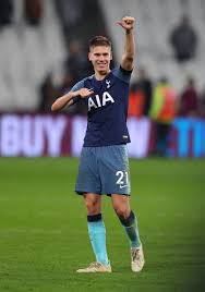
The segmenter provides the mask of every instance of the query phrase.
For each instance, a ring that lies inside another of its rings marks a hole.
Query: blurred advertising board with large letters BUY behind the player
[[[128,119],[129,155],[147,157],[155,147],[153,122]],[[67,114],[0,114],[0,156],[79,157],[86,131],[86,118]],[[167,149],[169,157],[205,157],[205,119],[176,119]]]

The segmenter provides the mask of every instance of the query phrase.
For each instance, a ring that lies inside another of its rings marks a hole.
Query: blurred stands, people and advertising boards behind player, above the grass
[[[51,114],[53,100],[93,74],[87,42],[112,41],[112,68],[123,51],[116,24],[136,19],[131,80],[131,157],[205,156],[205,1],[1,0],[0,156],[79,156],[86,109]]]

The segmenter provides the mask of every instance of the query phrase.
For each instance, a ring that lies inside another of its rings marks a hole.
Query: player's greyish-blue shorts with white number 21
[[[130,195],[126,145],[83,147],[75,192]]]

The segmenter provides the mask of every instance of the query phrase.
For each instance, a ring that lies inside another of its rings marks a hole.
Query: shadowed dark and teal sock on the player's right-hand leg
[[[141,239],[138,234],[138,228],[137,228],[137,220],[134,216],[134,212],[131,210],[129,218],[121,219],[120,221],[122,226],[125,229],[125,232],[130,240],[130,246],[131,247],[140,247],[141,246]]]

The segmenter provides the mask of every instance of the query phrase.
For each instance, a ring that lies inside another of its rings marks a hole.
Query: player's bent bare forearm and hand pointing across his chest
[[[93,93],[94,92],[88,88],[70,90],[68,94],[57,98],[57,100],[51,106],[51,111],[60,111],[67,107],[70,107],[71,105],[75,104],[77,99],[88,97]]]

